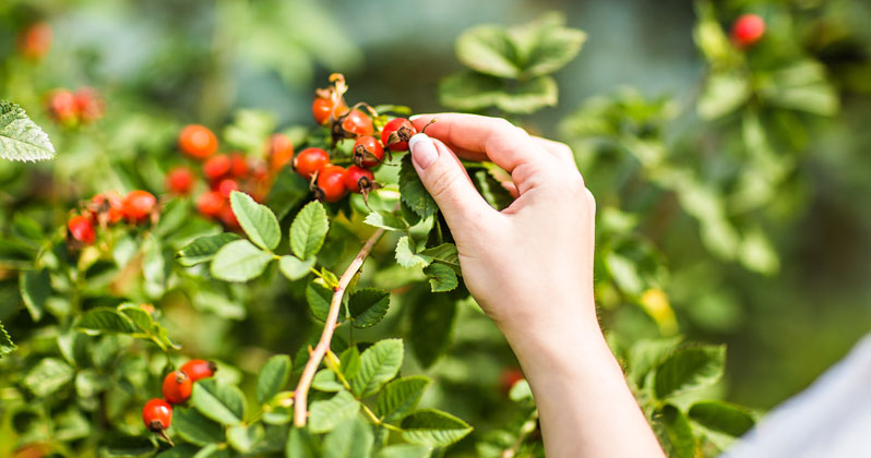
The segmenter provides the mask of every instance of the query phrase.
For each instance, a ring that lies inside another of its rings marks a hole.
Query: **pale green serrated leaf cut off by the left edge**
[[[48,135],[17,105],[0,100],[0,157],[8,160],[46,160],[55,157]]]

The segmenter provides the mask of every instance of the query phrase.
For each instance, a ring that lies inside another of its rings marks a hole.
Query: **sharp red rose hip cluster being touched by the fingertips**
[[[348,108],[344,100],[347,92],[344,76],[335,73],[330,76],[330,81],[329,87],[315,92],[311,112],[318,124],[330,130],[333,146],[345,138],[355,140],[351,148],[354,165],[345,169],[333,164],[325,149],[312,147],[297,155],[294,169],[302,178],[310,180],[311,191],[320,201],[338,202],[349,192],[367,196],[378,185],[372,169],[384,160],[385,149],[407,150],[408,140],[417,131],[409,120],[394,118],[377,133],[372,118],[378,117],[378,113],[365,104]]]

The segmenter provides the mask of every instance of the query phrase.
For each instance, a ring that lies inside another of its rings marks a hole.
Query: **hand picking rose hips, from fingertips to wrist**
[[[498,118],[442,113],[413,122],[420,131],[409,142],[413,164],[451,228],[472,296],[510,340],[566,321],[595,324],[596,205],[571,149]],[[502,212],[490,207],[457,156],[511,173],[515,201]]]

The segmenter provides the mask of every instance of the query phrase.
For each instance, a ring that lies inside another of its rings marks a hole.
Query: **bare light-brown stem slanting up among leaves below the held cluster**
[[[309,361],[306,362],[306,367],[302,370],[302,375],[299,378],[297,388],[294,390],[294,425],[297,427],[305,427],[308,421],[309,388],[311,388],[311,382],[314,378],[318,366],[321,365],[324,354],[330,350],[330,342],[333,340],[333,332],[338,321],[338,312],[342,309],[342,297],[345,296],[345,288],[348,287],[350,280],[357,275],[357,270],[362,266],[366,256],[369,255],[369,252],[372,251],[372,248],[383,234],[384,229],[377,230],[369,240],[366,241],[366,244],[363,244],[360,252],[357,253],[357,256],[351,261],[348,268],[345,269],[345,273],[342,274],[342,277],[338,279],[338,286],[335,288],[333,299],[330,302],[330,312],[326,314],[326,323],[323,326],[321,339],[318,341],[314,349],[310,350]]]

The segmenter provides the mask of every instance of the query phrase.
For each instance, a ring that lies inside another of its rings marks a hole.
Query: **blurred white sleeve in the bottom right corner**
[[[720,458],[871,458],[871,334]]]

